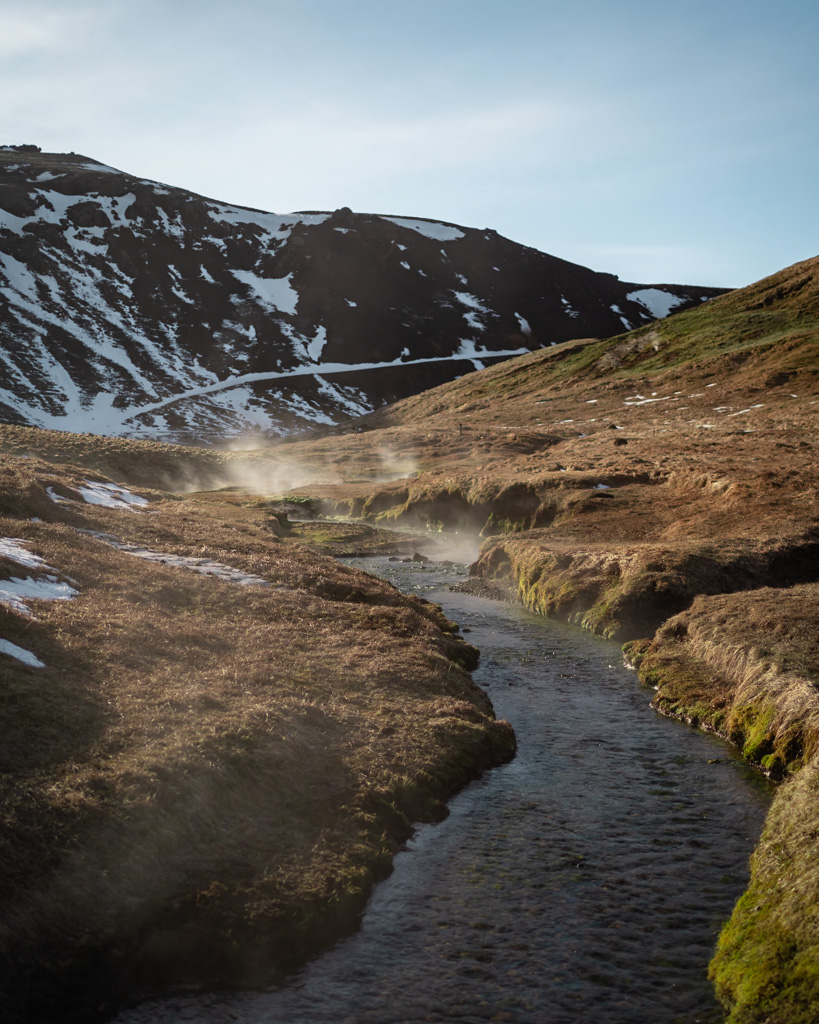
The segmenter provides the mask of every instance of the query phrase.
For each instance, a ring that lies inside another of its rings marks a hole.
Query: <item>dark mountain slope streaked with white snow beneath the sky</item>
[[[0,148],[0,420],[167,439],[338,422],[718,289],[423,219],[274,214]]]

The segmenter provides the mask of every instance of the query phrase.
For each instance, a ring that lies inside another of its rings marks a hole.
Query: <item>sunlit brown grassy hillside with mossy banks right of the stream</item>
[[[290,450],[356,481],[309,488],[331,509],[482,530],[476,585],[636,641],[659,710],[793,776],[713,967],[733,1024],[819,998],[818,345],[814,259]],[[379,482],[390,461],[416,472]]]

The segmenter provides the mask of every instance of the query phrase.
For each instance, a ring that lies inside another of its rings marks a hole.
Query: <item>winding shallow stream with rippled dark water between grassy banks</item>
[[[649,710],[613,643],[451,593],[463,566],[355,564],[443,604],[518,755],[422,825],[361,929],[267,992],[145,1004],[118,1024],[693,1024],[769,787]]]

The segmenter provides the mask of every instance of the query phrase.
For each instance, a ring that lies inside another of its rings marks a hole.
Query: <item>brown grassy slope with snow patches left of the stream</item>
[[[89,475],[0,456],[0,536],[79,591],[0,605],[0,637],[45,664],[0,653],[4,1021],[288,969],[354,924],[408,819],[514,748],[436,606],[281,543],[264,502],[143,492],[139,514],[84,504]]]

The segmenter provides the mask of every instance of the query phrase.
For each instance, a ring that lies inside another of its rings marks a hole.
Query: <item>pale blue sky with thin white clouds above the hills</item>
[[[0,143],[736,287],[819,253],[818,51],[802,0],[0,0]]]

